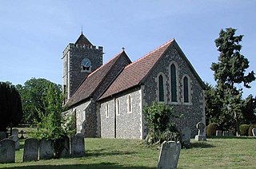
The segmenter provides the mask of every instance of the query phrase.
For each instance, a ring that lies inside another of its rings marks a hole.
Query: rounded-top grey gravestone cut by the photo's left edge
[[[15,143],[13,140],[0,141],[0,163],[15,163]]]

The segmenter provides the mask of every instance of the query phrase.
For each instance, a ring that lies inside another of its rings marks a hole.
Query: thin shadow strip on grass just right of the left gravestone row
[[[137,152],[131,151],[110,151],[109,149],[99,149],[94,151],[86,151],[86,156],[106,156],[106,155],[132,155],[137,154]]]

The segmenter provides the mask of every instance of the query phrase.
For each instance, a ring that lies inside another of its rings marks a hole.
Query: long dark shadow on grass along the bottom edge
[[[11,167],[15,169],[23,169],[23,168],[31,168],[31,169],[40,169],[40,168],[155,168],[155,167],[136,167],[136,166],[130,166],[125,167],[118,165],[118,163],[95,163],[95,164],[72,164],[72,165],[38,165],[38,166],[24,166],[24,167]]]

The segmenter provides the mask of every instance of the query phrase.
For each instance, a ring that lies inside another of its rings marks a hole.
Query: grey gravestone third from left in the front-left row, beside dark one
[[[39,159],[54,158],[54,143],[52,140],[39,141]]]

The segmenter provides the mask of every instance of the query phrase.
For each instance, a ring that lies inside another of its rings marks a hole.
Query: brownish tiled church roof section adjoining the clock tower
[[[94,70],[93,73],[90,73],[90,75],[86,77],[84,81],[82,81],[82,84],[74,92],[74,95],[70,97],[70,100],[68,100],[66,106],[70,107],[82,100],[90,98],[90,96],[93,95],[98,86],[102,84],[102,81],[104,81],[104,78],[110,72],[110,69],[114,67],[114,65],[117,63],[118,58],[122,56],[127,57],[124,51],[118,53],[113,59],[108,61],[106,64]],[[130,61],[129,58],[128,60]]]

